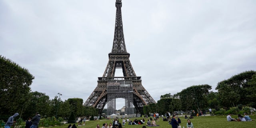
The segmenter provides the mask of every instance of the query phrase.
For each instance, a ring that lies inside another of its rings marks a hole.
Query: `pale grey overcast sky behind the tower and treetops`
[[[108,63],[115,2],[0,0],[0,54],[29,70],[32,91],[85,102]],[[122,21],[132,67],[156,102],[256,70],[255,0],[122,0]]]

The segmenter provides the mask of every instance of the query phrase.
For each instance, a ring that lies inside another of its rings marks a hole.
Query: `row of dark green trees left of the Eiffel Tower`
[[[34,76],[27,69],[0,56],[0,120],[6,121],[16,112],[24,120],[33,117],[36,112],[42,118],[69,118],[71,113],[75,117],[98,114],[97,109],[82,106],[81,98],[62,101],[58,96],[50,99],[45,93],[31,92],[33,79]]]

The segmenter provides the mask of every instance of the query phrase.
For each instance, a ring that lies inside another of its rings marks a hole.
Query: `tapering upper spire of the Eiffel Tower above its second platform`
[[[116,23],[114,41],[111,53],[127,53],[124,43],[124,32],[122,22],[122,0],[116,0]]]

